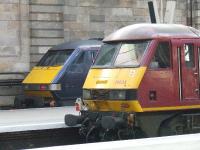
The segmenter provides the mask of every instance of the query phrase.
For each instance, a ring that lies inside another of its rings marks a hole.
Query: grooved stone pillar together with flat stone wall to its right
[[[150,22],[148,1],[30,0],[31,68],[50,47],[63,41],[103,38],[123,26]],[[177,0],[175,23],[186,24],[186,2]]]

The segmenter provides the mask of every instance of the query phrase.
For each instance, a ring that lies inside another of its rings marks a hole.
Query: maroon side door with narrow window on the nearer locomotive
[[[199,52],[197,40],[181,40],[179,49],[181,99],[199,99]]]

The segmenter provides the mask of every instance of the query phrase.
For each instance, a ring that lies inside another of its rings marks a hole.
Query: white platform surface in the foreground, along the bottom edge
[[[200,150],[200,134],[36,148],[34,150]],[[32,149],[33,150],[33,149]]]

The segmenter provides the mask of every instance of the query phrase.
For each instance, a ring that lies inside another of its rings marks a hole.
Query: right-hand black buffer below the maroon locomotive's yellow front
[[[101,126],[104,129],[115,129],[126,127],[126,122],[121,117],[104,116],[101,120]]]

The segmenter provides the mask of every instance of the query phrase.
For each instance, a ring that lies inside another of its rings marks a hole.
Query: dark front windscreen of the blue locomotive
[[[37,66],[62,66],[73,50],[50,50],[39,61]]]

